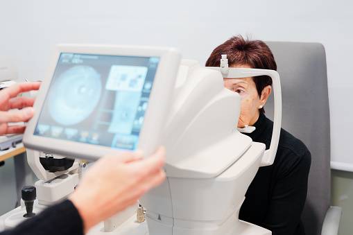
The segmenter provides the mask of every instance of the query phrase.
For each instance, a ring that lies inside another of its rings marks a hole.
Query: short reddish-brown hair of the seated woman
[[[270,48],[261,40],[244,39],[241,35],[231,37],[225,43],[219,45],[212,51],[206,62],[207,67],[219,67],[221,55],[227,55],[228,65],[248,65],[253,69],[277,70],[277,64]],[[262,90],[272,85],[272,79],[268,76],[258,76],[253,78],[257,93],[261,97]],[[261,108],[263,114],[264,108]]]

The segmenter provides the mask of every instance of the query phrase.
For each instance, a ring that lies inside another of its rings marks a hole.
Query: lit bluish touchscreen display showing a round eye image
[[[34,134],[135,150],[159,61],[61,53]]]

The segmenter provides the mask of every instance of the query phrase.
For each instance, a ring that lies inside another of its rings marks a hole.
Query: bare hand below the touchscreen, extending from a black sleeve
[[[107,155],[91,166],[70,198],[83,219],[85,233],[161,184],[165,155],[163,147],[146,159],[141,152],[126,152]]]

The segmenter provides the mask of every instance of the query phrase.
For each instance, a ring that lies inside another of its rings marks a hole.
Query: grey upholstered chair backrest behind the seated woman
[[[282,87],[282,128],[302,140],[311,152],[305,232],[321,233],[330,205],[330,128],[325,49],[319,43],[266,42],[277,62]],[[273,96],[265,105],[273,119]]]

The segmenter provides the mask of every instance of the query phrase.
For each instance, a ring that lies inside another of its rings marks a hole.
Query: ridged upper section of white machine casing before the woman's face
[[[192,60],[183,61],[177,80],[162,136],[168,153],[166,171],[170,177],[216,177],[252,142],[237,131],[240,109],[230,109],[230,105],[240,107],[240,99],[223,87],[220,73]],[[228,148],[234,143],[242,147],[231,153]],[[222,149],[224,153],[220,152]],[[219,161],[217,155],[223,160]]]

